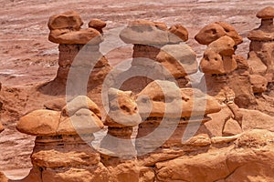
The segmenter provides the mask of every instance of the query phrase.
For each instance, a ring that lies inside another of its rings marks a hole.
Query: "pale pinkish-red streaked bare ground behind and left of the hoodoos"
[[[1,121],[5,131],[0,135],[0,170],[20,178],[31,167],[29,156],[34,137],[16,131],[16,121],[26,112],[41,108],[44,96],[33,88],[54,78],[58,68],[58,45],[47,40],[47,20],[68,10],[79,12],[87,23],[91,18],[107,22],[105,32],[126,25],[134,19],[148,19],[167,25],[182,24],[189,31],[187,44],[192,46],[198,58],[204,45],[198,45],[195,34],[205,25],[225,21],[244,37],[237,54],[247,57],[248,31],[258,27],[256,13],[272,0],[0,0],[0,93],[4,103]],[[130,53],[116,52],[109,56],[112,64]]]

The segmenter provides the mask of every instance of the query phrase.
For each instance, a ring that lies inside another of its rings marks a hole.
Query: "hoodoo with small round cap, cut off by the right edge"
[[[272,82],[274,74],[274,6],[263,8],[258,12],[257,17],[261,19],[261,25],[248,34],[248,39],[251,40],[248,63],[256,73],[265,76],[269,82]],[[258,64],[262,66],[258,66]],[[266,66],[265,69],[258,70],[264,66]]]

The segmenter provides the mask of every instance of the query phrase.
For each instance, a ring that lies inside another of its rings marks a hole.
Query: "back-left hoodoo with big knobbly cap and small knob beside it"
[[[48,40],[59,44],[59,67],[56,78],[42,86],[42,91],[47,94],[64,94],[68,82],[77,85],[81,80],[87,79],[86,75],[90,90],[99,86],[111,70],[108,60],[100,53],[102,28],[106,23],[100,19],[91,19],[88,28],[83,29],[81,25],[83,22],[79,14],[74,11],[52,15],[48,20]]]

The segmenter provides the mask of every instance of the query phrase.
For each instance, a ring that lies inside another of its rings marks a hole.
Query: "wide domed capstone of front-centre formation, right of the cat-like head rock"
[[[153,81],[137,96],[137,104],[142,116],[204,116],[221,109],[214,97],[206,96],[195,88],[180,89],[173,82],[168,81]]]

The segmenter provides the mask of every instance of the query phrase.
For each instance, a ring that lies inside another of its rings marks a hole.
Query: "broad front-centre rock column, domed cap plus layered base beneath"
[[[138,94],[137,104],[143,122],[138,128],[136,149],[144,167],[210,145],[210,134],[204,126],[210,120],[207,114],[221,109],[214,97],[198,89],[179,88],[160,80]]]

